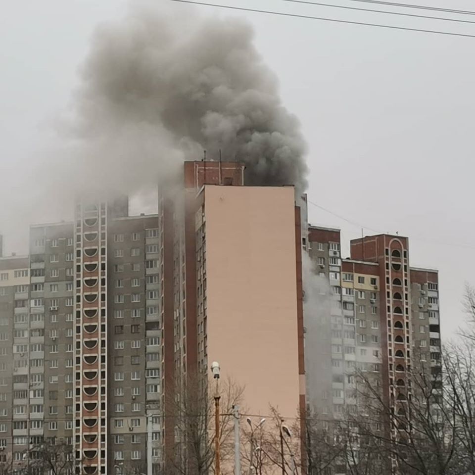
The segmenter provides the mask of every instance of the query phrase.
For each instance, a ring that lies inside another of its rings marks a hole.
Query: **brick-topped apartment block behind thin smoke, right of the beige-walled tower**
[[[309,255],[322,282],[319,306],[305,315],[308,403],[329,418],[358,410],[355,369],[382,386],[390,407],[403,405],[411,367],[440,373],[438,274],[411,267],[408,238],[351,241],[340,255],[336,229],[309,227]]]

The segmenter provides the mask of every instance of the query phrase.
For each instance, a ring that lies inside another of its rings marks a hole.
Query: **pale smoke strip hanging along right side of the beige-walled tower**
[[[323,393],[332,389],[332,290],[306,252],[302,252],[302,278],[307,402],[318,411]]]

